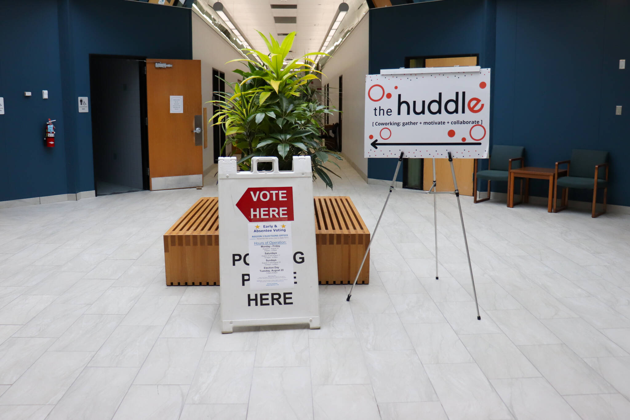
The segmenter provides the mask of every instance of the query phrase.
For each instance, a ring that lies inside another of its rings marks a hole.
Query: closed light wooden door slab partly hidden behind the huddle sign
[[[443,59],[426,59],[425,67],[452,67],[454,65],[477,65],[477,57],[447,57]],[[455,179],[461,195],[473,195],[473,159],[453,159]],[[422,173],[423,190],[433,184],[432,159],[425,159]],[[449,159],[435,159],[435,176],[437,191],[453,191],[453,176],[450,173]]]

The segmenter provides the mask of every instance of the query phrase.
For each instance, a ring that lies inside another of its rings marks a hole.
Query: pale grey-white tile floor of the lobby
[[[342,164],[374,227],[386,187]],[[630,217],[394,193],[370,285],[322,328],[222,335],[218,287],[166,287],[162,234],[198,190],[0,210],[0,419],[629,419]]]

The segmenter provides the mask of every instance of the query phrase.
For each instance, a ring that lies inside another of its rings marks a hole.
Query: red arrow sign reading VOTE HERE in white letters
[[[293,220],[293,187],[248,188],[236,207],[249,222],[285,222]]]

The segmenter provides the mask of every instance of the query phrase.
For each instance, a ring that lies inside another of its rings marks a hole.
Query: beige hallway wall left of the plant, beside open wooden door
[[[229,63],[229,60],[241,59],[239,54],[230,43],[221,37],[214,29],[203,21],[197,14],[192,13],[193,21],[193,59],[201,60],[201,88],[203,106],[208,108],[208,119],[212,118],[212,104],[207,103],[212,100],[212,69],[225,72],[228,82],[236,82],[240,77],[232,70],[243,68],[239,63]],[[214,163],[214,153],[212,149],[212,123],[207,125],[208,147],[203,149],[203,170],[205,171]]]

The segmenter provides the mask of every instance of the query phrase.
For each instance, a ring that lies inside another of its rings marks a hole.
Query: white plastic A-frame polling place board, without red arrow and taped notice
[[[273,169],[258,171],[258,162],[271,162]],[[319,285],[311,157],[294,156],[292,171],[278,170],[277,157],[253,157],[252,168],[252,171],[238,171],[236,157],[219,157],[221,331],[232,332],[238,326],[283,324],[309,324],[311,329],[317,329]],[[248,188],[262,187],[292,187],[293,220],[287,220],[292,225],[295,278],[292,288],[273,288],[268,292],[250,288],[246,265],[249,262],[245,256],[249,253],[250,222],[237,203]],[[263,293],[268,295],[263,297]],[[278,295],[280,298],[271,300]]]

